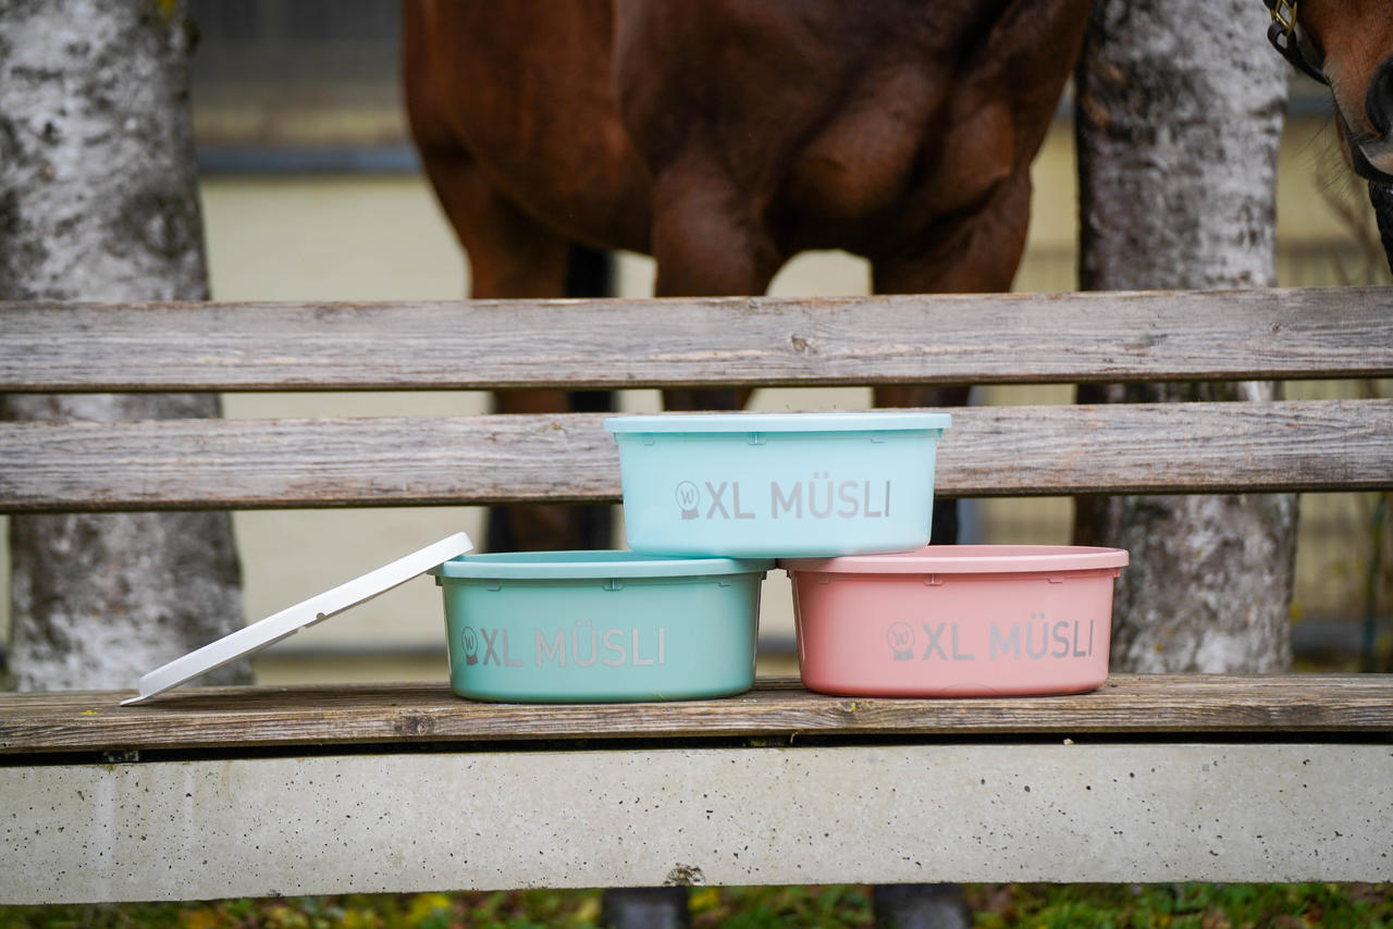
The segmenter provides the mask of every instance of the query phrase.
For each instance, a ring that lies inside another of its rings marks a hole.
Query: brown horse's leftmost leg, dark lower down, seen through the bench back
[[[546,228],[499,192],[458,148],[422,145],[426,174],[469,256],[469,295],[476,299],[566,297],[581,249]],[[591,276],[593,277],[593,274]],[[593,409],[593,391],[507,390],[493,396],[493,411],[547,414]],[[514,504],[489,508],[485,549],[603,549],[610,546],[607,506]]]

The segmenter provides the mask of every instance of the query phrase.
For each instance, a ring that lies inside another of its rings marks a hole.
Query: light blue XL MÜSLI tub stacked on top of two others
[[[624,529],[651,554],[811,557],[929,542],[949,414],[614,416]]]

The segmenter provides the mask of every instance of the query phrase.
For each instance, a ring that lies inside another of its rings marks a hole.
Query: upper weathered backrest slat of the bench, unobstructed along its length
[[[1393,290],[3,304],[0,391],[1393,375]]]

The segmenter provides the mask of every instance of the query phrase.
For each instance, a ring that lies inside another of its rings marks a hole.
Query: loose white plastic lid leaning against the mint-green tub
[[[472,547],[474,543],[469,542],[468,535],[456,532],[446,539],[440,539],[403,559],[397,559],[391,564],[384,564],[347,584],[340,584],[295,606],[286,607],[280,613],[273,613],[263,620],[224,635],[216,642],[209,642],[203,648],[195,649],[142,676],[138,684],[139,695],[121,701],[121,706],[139,703],[156,694],[163,694],[171,687],[191,681],[199,674],[206,674],[228,662],[234,662],[244,655],[258,652],[267,645],[281,641],[287,635],[294,635],[306,625],[327,620],[330,616],[343,613],[351,606],[358,606],[379,593],[386,593],[391,588],[400,586],[418,574],[425,574],[437,564],[464,554]]]

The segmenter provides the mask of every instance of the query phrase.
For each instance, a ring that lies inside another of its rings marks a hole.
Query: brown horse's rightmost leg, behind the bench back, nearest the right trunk
[[[872,262],[878,294],[978,294],[1011,288],[1025,251],[1029,177],[1007,177],[985,206],[958,220],[928,248]],[[892,384],[875,389],[876,407],[965,407],[971,386]],[[933,503],[933,542],[958,540],[956,500]]]

